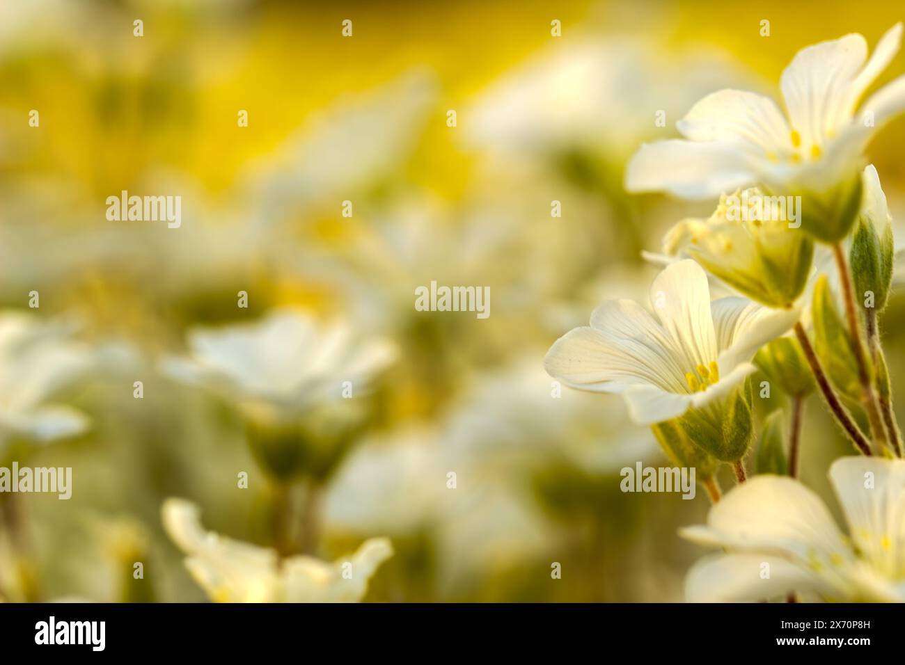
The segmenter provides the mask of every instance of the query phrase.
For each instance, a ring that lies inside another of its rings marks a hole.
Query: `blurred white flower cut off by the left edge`
[[[14,440],[52,442],[88,428],[84,413],[50,402],[90,365],[70,332],[24,314],[0,316],[0,452]]]

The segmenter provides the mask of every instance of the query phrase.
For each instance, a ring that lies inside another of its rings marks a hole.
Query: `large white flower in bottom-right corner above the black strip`
[[[843,458],[830,480],[849,537],[813,491],[779,476],[748,480],[710,508],[707,526],[682,529],[683,537],[729,550],[691,568],[687,599],[757,601],[797,591],[827,601],[905,602],[905,461]]]

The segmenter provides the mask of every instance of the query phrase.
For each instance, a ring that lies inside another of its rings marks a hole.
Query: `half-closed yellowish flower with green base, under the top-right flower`
[[[782,199],[785,204],[785,199]],[[788,307],[805,290],[814,243],[776,214],[757,188],[721,195],[710,219],[686,219],[663,239],[663,253],[698,261],[720,280],[767,307]]]

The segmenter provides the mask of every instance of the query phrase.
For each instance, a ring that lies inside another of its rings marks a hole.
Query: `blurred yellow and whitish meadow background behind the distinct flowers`
[[[268,545],[236,413],[160,361],[196,326],[291,306],[400,348],[317,508],[319,556],[392,539],[367,600],[680,601],[700,549],[676,529],[706,499],[621,493],[623,466],[660,459],[653,436],[616,397],[552,399],[543,356],[600,300],[643,299],[640,252],[710,213],[624,193],[641,143],[710,91],[776,98],[801,47],[873,44],[900,18],[815,1],[2,0],[0,305],[77,322],[95,362],[61,396],[90,430],[22,452],[71,466],[73,497],[20,498],[24,545],[0,556],[32,581],[0,576],[0,594],[203,600],[160,524],[170,496]],[[900,54],[878,85],[902,71]],[[897,222],[903,134],[869,151]],[[122,190],[181,195],[181,226],[110,222]],[[490,287],[491,316],[416,311],[431,280]],[[903,314],[893,298],[883,326],[897,387]],[[802,476],[829,495],[846,444],[811,402]]]

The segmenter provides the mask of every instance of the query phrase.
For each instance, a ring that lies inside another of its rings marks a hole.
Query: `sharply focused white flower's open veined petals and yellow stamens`
[[[574,388],[621,394],[633,421],[660,423],[729,394],[754,372],[757,349],[798,316],[743,298],[710,302],[707,275],[690,260],[653,280],[651,301],[657,318],[633,300],[602,304],[590,327],[550,348],[548,373]]]

